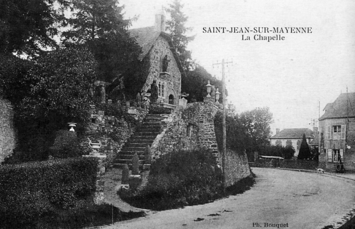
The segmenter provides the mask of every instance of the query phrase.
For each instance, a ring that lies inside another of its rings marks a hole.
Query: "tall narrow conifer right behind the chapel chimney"
[[[184,68],[188,70],[191,62],[191,51],[186,49],[187,44],[194,40],[195,36],[186,36],[186,33],[192,31],[192,28],[187,28],[185,23],[188,19],[182,13],[183,4],[180,0],[174,0],[173,4],[169,4],[168,9],[165,9],[166,12],[170,13],[171,19],[167,20],[166,24],[170,34],[172,36],[172,42],[177,50],[177,56]]]

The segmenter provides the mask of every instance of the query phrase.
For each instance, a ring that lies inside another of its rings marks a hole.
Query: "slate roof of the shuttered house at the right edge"
[[[320,120],[325,118],[355,117],[355,92],[341,93],[334,102],[328,103],[323,111],[325,113],[320,117]]]

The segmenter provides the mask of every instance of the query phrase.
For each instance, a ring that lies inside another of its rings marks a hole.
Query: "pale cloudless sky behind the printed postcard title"
[[[155,13],[172,0],[120,0],[131,28],[154,25]],[[188,49],[209,73],[222,78],[236,112],[269,107],[276,128],[310,128],[312,118],[340,93],[355,92],[355,1],[181,0],[195,35]],[[167,14],[168,17],[168,14]],[[206,27],[310,27],[312,33],[203,33]],[[284,40],[254,40],[254,35]],[[244,35],[244,40],[242,39]],[[245,40],[249,36],[250,40]],[[320,104],[320,109],[319,109]]]

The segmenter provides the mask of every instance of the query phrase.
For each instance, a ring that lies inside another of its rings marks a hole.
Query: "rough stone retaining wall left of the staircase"
[[[139,123],[146,114],[146,111],[137,110],[133,116]],[[133,134],[136,126],[126,122],[122,118],[107,116],[103,111],[99,111],[98,113],[93,112],[90,120],[91,122],[86,127],[85,133],[80,139],[81,146],[89,154],[92,151],[89,147],[89,140],[92,143],[101,143],[102,146],[99,152],[102,155],[106,155],[106,162],[110,163]]]

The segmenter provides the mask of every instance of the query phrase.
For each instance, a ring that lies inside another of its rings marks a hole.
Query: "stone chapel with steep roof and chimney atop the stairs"
[[[165,32],[165,14],[163,10],[155,16],[155,26],[129,30],[142,47],[140,62],[149,62],[146,81],[142,92],[150,93],[155,80],[158,86],[158,102],[165,107],[175,108],[181,93],[181,74],[184,74],[178,60],[171,36]]]

